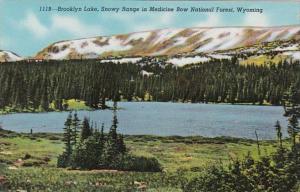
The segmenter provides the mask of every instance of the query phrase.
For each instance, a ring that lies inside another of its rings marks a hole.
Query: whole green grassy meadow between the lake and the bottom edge
[[[57,156],[63,151],[61,134],[3,133],[0,136],[0,176],[6,177],[6,186],[12,191],[140,191],[143,187],[147,191],[181,191],[183,182],[201,174],[207,166],[226,165],[230,159],[242,159],[249,151],[255,159],[259,158],[252,140],[125,136],[130,153],[156,157],[163,172],[67,170],[56,168]],[[275,141],[260,144],[261,155],[269,155],[276,149]]]

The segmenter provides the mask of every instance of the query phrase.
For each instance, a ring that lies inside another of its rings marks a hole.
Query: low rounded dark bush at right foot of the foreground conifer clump
[[[120,162],[120,168],[125,171],[160,172],[162,167],[153,157],[125,156]]]

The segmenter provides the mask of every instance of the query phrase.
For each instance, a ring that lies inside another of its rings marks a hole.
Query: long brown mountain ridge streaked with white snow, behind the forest
[[[40,51],[36,58],[172,56],[184,53],[212,53],[289,40],[300,40],[300,26],[161,29],[56,42]]]

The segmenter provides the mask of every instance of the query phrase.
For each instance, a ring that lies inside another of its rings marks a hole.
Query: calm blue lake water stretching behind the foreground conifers
[[[111,105],[111,103],[109,103]],[[119,132],[132,135],[201,135],[231,136],[255,139],[276,138],[274,125],[279,120],[287,136],[287,119],[283,108],[223,104],[189,104],[160,102],[119,102]],[[111,125],[112,111],[78,111],[80,119],[87,116],[100,127]],[[18,132],[62,132],[68,112],[19,113],[0,116],[4,129]]]

